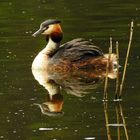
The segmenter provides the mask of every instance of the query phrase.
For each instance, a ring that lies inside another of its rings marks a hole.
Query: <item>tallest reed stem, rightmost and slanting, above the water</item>
[[[127,49],[127,54],[126,54],[126,59],[125,59],[125,64],[124,64],[124,70],[123,70],[123,76],[122,76],[122,81],[121,81],[121,84],[120,84],[120,91],[119,91],[119,98],[120,99],[121,99],[121,96],[122,96],[122,89],[123,89],[123,85],[124,85],[126,68],[127,68],[127,63],[128,63],[128,58],[129,58],[129,53],[130,53],[130,48],[131,48],[131,42],[132,42],[132,37],[133,37],[133,26],[134,26],[134,22],[131,21],[128,49]]]

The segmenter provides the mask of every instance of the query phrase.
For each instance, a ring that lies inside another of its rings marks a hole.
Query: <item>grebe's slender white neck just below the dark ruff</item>
[[[45,55],[50,55],[50,54],[54,53],[59,48],[59,45],[60,45],[59,43],[55,43],[54,41],[52,41],[51,38],[49,38],[48,44],[41,51],[41,53],[43,53]]]

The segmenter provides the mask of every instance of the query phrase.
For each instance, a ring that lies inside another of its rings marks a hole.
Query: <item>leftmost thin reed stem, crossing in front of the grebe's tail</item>
[[[109,62],[110,62],[111,53],[112,53],[112,37],[110,37],[109,56],[108,56],[108,61],[106,64],[106,76],[105,76],[104,98],[103,98],[104,101],[107,100],[108,71],[109,71]]]

